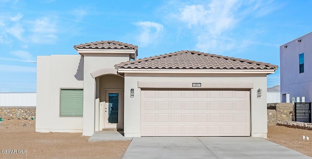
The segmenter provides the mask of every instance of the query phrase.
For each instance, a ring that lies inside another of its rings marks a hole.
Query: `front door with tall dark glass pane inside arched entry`
[[[123,91],[105,89],[105,128],[123,128]]]

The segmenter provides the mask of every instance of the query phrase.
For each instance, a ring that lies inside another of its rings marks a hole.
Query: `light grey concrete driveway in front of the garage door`
[[[312,159],[251,137],[133,138],[123,159]]]

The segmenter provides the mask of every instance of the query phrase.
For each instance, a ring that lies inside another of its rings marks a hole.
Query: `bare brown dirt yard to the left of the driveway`
[[[37,133],[31,120],[3,120],[0,159],[121,159],[131,142],[88,139],[82,133]]]

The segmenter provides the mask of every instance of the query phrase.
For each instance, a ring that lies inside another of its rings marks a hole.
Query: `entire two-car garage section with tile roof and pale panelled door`
[[[267,138],[267,75],[276,65],[180,51],[116,68],[124,76],[125,137]]]

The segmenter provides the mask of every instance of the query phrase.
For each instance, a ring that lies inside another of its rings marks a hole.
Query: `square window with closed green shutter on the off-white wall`
[[[83,114],[83,89],[60,89],[60,117]]]

